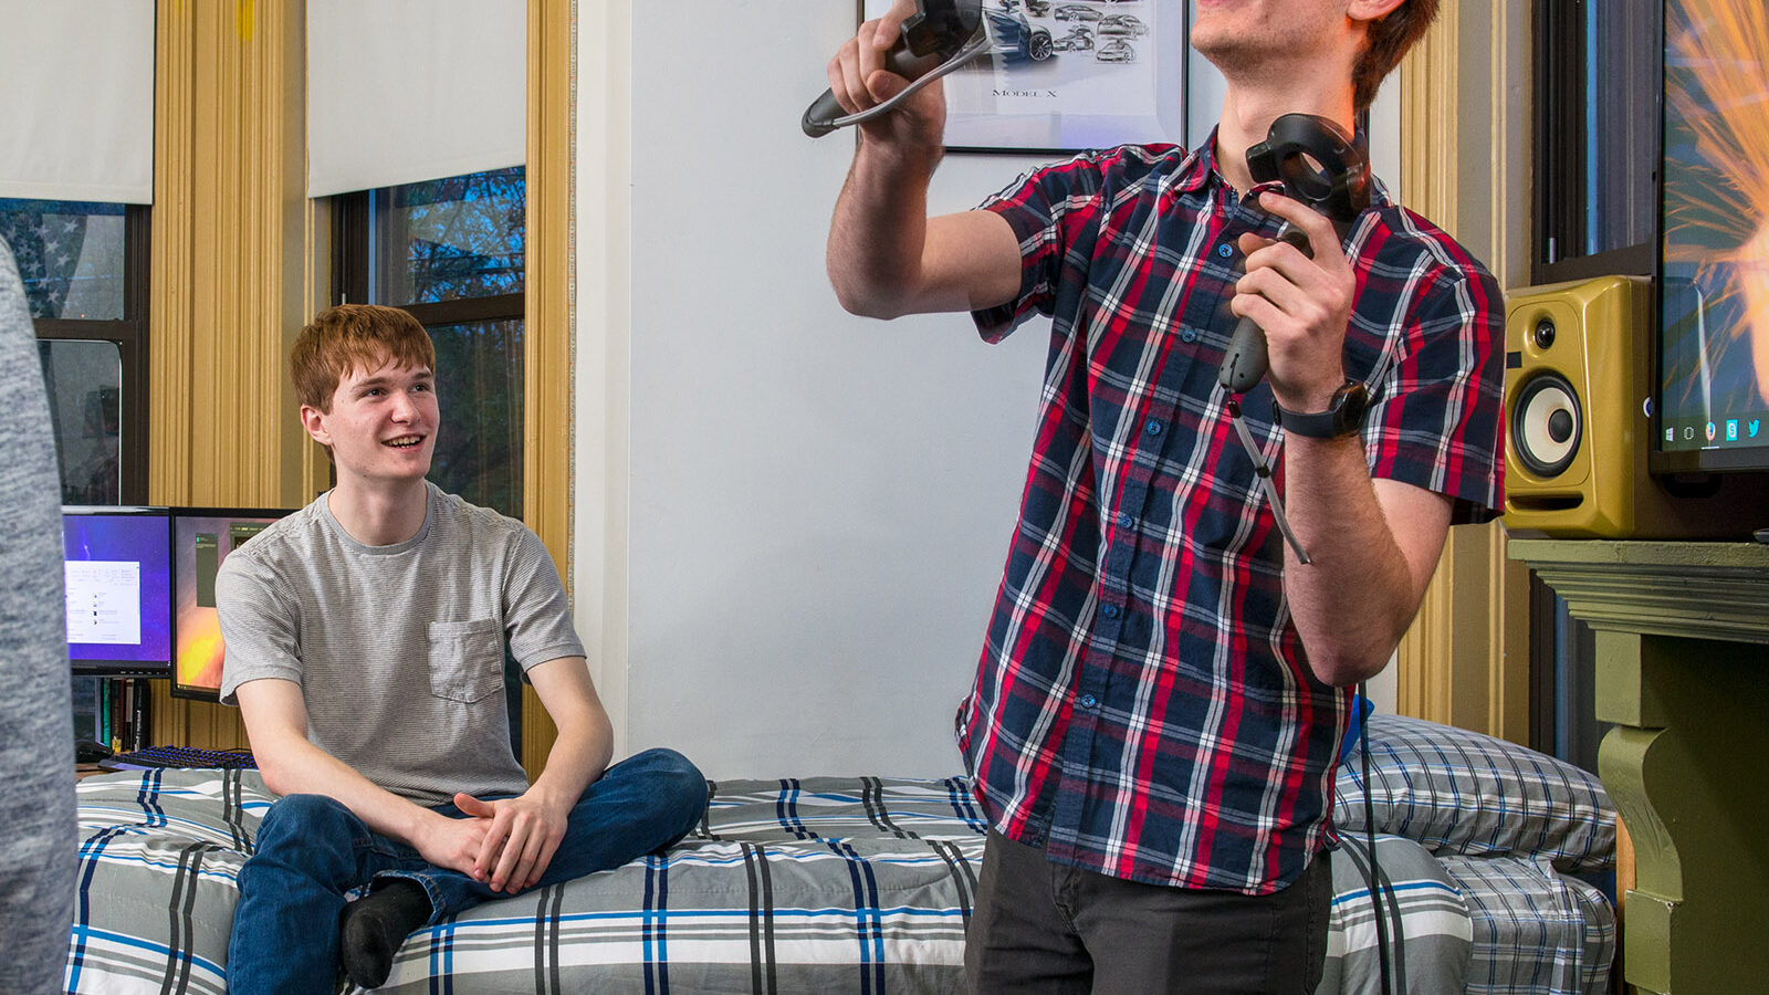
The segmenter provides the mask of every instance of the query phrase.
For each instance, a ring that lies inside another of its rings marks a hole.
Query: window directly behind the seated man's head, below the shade
[[[437,349],[430,480],[522,517],[522,306],[527,188],[520,166],[336,198],[336,301],[410,312]]]

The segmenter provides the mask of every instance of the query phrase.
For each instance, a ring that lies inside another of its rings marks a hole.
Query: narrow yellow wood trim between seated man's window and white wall
[[[522,335],[522,519],[571,584],[573,0],[529,0],[527,282]],[[540,775],[557,728],[522,692],[522,758]]]

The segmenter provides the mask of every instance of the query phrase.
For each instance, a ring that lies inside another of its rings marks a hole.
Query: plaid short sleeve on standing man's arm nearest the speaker
[[[1454,524],[1504,505],[1504,296],[1481,269],[1440,271],[1406,317],[1405,349],[1369,413],[1371,476],[1456,501]]]

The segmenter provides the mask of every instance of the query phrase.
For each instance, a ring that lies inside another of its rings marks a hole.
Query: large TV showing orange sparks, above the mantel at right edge
[[[1652,469],[1769,471],[1769,5],[1666,0],[1663,73]]]

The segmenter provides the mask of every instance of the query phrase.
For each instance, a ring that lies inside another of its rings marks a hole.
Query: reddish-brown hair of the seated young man
[[[435,370],[435,345],[417,319],[380,305],[325,308],[301,329],[295,347],[288,351],[295,400],[331,414],[338,381],[352,370],[375,370],[389,359]]]

